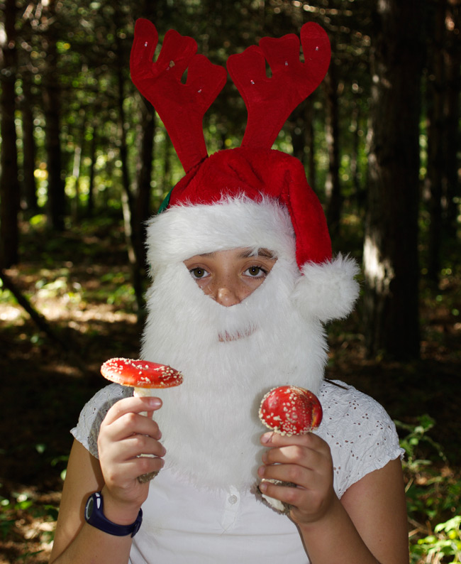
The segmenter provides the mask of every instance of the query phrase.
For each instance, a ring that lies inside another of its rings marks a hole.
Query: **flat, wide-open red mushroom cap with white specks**
[[[101,366],[104,378],[134,388],[172,388],[182,384],[182,374],[172,367],[147,360],[109,359]]]

